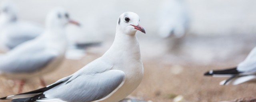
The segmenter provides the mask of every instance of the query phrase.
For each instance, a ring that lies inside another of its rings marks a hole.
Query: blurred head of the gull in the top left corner
[[[16,7],[10,0],[5,0],[0,5],[1,22],[15,22],[17,20]]]

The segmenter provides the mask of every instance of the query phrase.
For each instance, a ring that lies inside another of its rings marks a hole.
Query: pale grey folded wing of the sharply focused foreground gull
[[[91,102],[100,100],[115,92],[125,80],[125,74],[119,70],[103,73],[80,75],[68,83],[62,83],[43,94],[44,101],[60,99],[67,102]],[[40,101],[40,100],[38,100]]]

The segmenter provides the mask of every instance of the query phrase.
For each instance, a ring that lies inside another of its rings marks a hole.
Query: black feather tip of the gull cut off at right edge
[[[213,76],[213,77],[233,77],[234,75],[238,75],[240,72],[237,70],[237,67],[224,69],[224,70],[216,70],[216,71],[208,71],[204,73],[205,76]]]

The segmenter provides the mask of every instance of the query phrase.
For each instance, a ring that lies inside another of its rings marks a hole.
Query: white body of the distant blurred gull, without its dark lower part
[[[161,37],[183,37],[189,26],[188,10],[185,0],[164,0],[159,10],[159,29]]]

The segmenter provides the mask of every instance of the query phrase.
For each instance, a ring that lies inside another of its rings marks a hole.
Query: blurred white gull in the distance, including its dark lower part
[[[166,52],[180,54],[190,24],[186,0],[163,0],[157,18],[158,35],[165,38]]]

